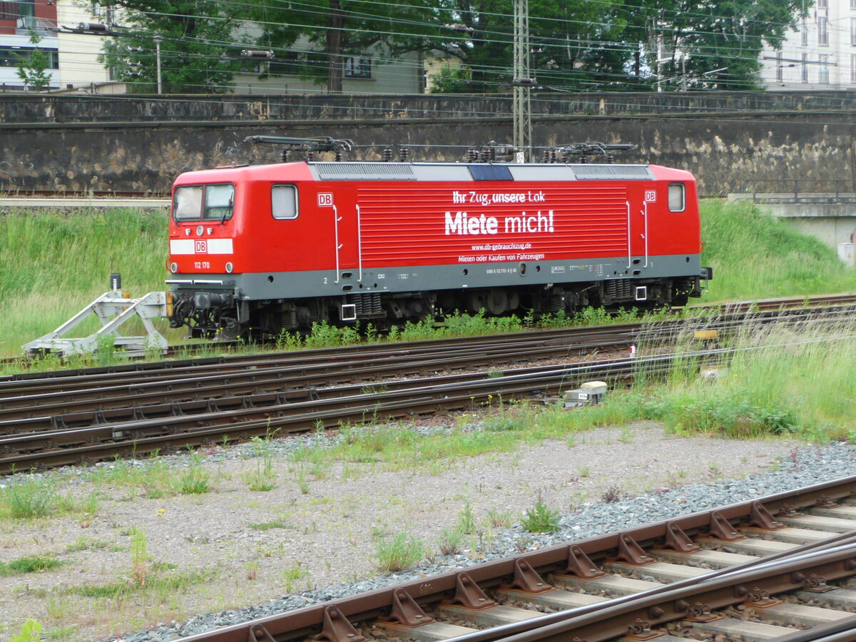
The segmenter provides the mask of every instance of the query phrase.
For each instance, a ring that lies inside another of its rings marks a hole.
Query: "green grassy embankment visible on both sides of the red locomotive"
[[[715,269],[705,302],[853,289],[853,270],[841,265],[835,251],[751,206],[705,202],[702,219],[703,264]],[[134,295],[163,288],[165,223],[163,212],[134,210],[0,217],[0,355],[18,354],[23,343],[53,330],[103,293],[110,272],[122,272],[123,289]],[[579,322],[603,320],[593,312]],[[450,325],[445,331],[455,334],[520,326],[467,318]],[[170,338],[180,341],[182,334],[176,330]],[[426,334],[429,328],[412,327],[402,338]],[[310,345],[355,338],[330,329],[320,335]]]

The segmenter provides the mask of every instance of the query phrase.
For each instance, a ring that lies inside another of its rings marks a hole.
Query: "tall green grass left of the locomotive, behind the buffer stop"
[[[140,295],[164,288],[165,211],[14,211],[0,217],[0,354],[54,330],[109,289]]]

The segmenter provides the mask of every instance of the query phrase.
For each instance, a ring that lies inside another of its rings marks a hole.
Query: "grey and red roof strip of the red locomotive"
[[[287,170],[287,173],[285,172]],[[187,172],[176,182],[274,181],[693,181],[682,169],[625,163],[392,163],[300,161]]]

